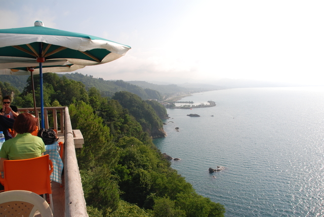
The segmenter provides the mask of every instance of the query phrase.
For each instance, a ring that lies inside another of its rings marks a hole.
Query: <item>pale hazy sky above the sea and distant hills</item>
[[[0,28],[95,35],[132,49],[78,73],[104,80],[324,85],[324,1],[0,0]]]

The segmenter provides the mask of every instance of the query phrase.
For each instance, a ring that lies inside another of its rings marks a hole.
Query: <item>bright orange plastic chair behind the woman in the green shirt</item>
[[[24,190],[38,195],[49,194],[53,211],[53,199],[50,175],[53,163],[49,155],[25,160],[4,161],[4,178],[0,175],[0,183],[6,191]]]

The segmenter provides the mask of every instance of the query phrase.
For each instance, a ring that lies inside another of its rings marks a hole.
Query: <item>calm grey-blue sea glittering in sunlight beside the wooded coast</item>
[[[217,105],[168,109],[168,136],[154,143],[181,159],[172,167],[198,194],[225,205],[226,216],[324,216],[324,87],[228,89],[181,99],[189,100]],[[227,169],[210,174],[217,166]]]

